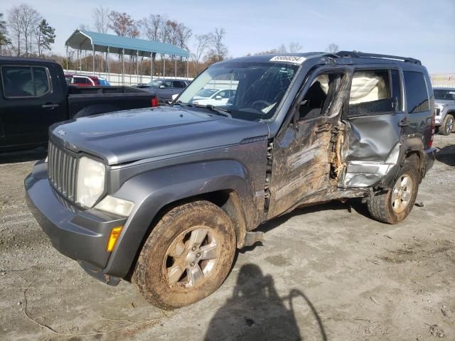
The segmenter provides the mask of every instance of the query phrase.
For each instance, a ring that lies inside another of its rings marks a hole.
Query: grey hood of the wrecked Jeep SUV
[[[183,107],[110,112],[50,126],[50,137],[108,165],[240,144],[267,136],[267,124],[230,119]]]

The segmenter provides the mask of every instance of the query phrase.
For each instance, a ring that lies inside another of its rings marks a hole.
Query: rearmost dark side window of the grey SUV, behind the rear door
[[[427,112],[429,101],[423,73],[405,71],[403,75],[405,75],[407,112],[410,114]]]

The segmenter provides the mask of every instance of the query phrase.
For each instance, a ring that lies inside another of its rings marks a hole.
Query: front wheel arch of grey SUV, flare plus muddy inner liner
[[[232,220],[237,247],[243,246],[248,226],[254,220],[254,192],[245,169],[237,161],[210,161],[151,171],[128,180],[115,195],[139,202],[103,271],[122,278],[129,277],[145,240],[173,207],[196,200],[213,202]],[[133,200],[132,195],[140,199]]]

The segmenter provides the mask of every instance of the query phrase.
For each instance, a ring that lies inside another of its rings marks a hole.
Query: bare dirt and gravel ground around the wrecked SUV
[[[266,242],[238,254],[216,293],[172,312],[55,251],[24,201],[41,155],[9,156],[0,340],[455,340],[455,134],[435,137],[439,161],[405,222],[356,202],[296,210],[261,227]]]

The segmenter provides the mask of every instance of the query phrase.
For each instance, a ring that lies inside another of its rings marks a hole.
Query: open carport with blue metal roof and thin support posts
[[[154,77],[154,59],[156,53],[161,55],[172,55],[174,57],[186,58],[186,76],[188,77],[188,58],[190,54],[187,50],[179,48],[176,45],[161,43],[154,40],[144,40],[137,38],[129,38],[124,36],[114,36],[113,34],[97,33],[86,30],[76,30],[65,42],[66,48],[66,63],[68,69],[68,48],[77,50],[77,58],[81,50],[92,51],[93,53],[93,75],[95,75],[95,52],[106,53],[107,71],[109,72],[109,54],[115,53],[122,55],[122,74],[125,74],[124,55],[134,55],[137,57],[136,68],[139,73],[139,57],[150,58],[150,74],[151,80]],[[177,60],[176,60],[177,65]],[[166,70],[166,59],[164,59],[164,72]],[[177,69],[177,66],[176,66]],[[123,80],[124,82],[124,80]]]

